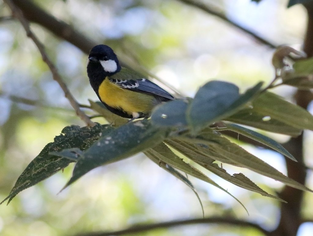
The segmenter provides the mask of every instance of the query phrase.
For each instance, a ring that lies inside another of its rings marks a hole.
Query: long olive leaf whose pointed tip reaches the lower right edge
[[[191,137],[178,137],[179,139],[187,139],[190,142],[194,142],[197,144],[205,144],[209,148],[213,149],[220,155],[223,155],[224,158],[232,160],[237,163],[238,166],[248,168],[253,170],[261,175],[270,177],[272,179],[278,180],[282,183],[285,183],[288,186],[304,190],[304,191],[312,191],[305,187],[304,185],[288,178],[278,170],[276,170],[271,165],[267,164],[263,160],[260,160],[256,156],[250,154],[240,146],[231,143],[228,139],[212,134],[210,136],[201,137],[198,136],[196,138]],[[218,160],[218,157],[215,157]]]

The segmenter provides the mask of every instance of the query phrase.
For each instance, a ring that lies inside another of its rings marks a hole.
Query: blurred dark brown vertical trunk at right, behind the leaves
[[[308,22],[303,50],[310,57],[313,56],[313,6],[311,4],[304,6],[308,13]],[[294,97],[297,105],[305,109],[307,109],[307,106],[312,101],[312,93],[310,91],[298,90]],[[298,163],[295,163],[286,159],[288,177],[305,185],[307,173],[305,167],[301,165],[304,163],[303,141],[304,137],[301,134],[297,138],[290,139],[283,146],[298,160]],[[277,236],[295,236],[299,226],[303,222],[301,216],[303,191],[285,186],[279,193],[279,197],[288,203],[281,204],[280,206],[280,222],[275,231],[273,231],[273,234]]]

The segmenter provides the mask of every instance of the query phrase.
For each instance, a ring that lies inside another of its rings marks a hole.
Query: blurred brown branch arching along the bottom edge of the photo
[[[169,228],[169,227],[177,227],[191,224],[228,224],[233,226],[242,226],[242,227],[252,227],[260,232],[264,233],[264,235],[271,236],[272,234],[259,226],[258,224],[247,222],[244,220],[239,220],[235,218],[225,218],[225,217],[208,217],[208,218],[198,218],[198,219],[190,219],[190,220],[177,220],[177,221],[168,221],[162,223],[153,223],[146,225],[135,225],[130,228],[126,228],[119,231],[113,232],[90,232],[90,233],[80,233],[76,236],[109,236],[109,235],[125,235],[125,234],[138,234],[145,232],[147,230],[154,230],[160,228]]]

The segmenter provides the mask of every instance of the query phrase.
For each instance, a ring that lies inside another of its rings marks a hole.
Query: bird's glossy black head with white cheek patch
[[[121,70],[114,51],[107,45],[97,45],[90,50],[87,63],[88,76],[95,74],[110,76]]]

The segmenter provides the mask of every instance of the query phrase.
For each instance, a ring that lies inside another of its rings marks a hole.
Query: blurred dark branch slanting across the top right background
[[[273,43],[269,42],[268,40],[260,37],[259,35],[252,32],[251,30],[244,28],[243,26],[237,24],[236,22],[232,21],[231,19],[228,19],[223,13],[221,13],[221,11],[213,9],[212,6],[209,7],[207,3],[205,4],[205,3],[202,3],[199,1],[194,1],[194,0],[177,0],[177,1],[185,3],[185,4],[190,5],[192,7],[198,8],[198,9],[200,9],[206,13],[209,13],[210,15],[213,15],[213,16],[216,16],[216,17],[222,19],[223,21],[234,26],[235,28],[240,29],[241,31],[243,31],[246,34],[249,34],[254,39],[259,41],[260,43],[269,46],[270,48],[276,48],[277,47],[277,45],[274,45]]]

